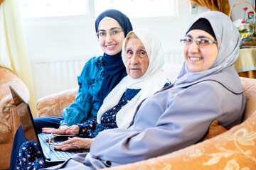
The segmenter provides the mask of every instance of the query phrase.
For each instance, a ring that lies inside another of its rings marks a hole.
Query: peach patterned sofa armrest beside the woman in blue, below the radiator
[[[75,101],[77,93],[78,88],[73,88],[40,98],[36,105],[38,117],[62,116],[63,109]]]

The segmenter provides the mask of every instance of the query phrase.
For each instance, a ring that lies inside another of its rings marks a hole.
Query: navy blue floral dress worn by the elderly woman
[[[117,112],[139,93],[140,89],[127,89],[120,99],[119,103],[104,113],[101,118],[101,124],[97,123],[97,117],[87,120],[86,123],[78,124],[81,137],[96,137],[102,130],[117,128]],[[43,161],[42,154],[38,148],[38,143],[27,141],[21,145],[18,151],[16,169],[42,169],[48,167]]]

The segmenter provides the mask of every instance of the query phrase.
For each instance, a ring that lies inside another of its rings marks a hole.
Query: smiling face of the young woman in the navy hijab
[[[107,33],[105,40],[99,40],[101,49],[107,55],[117,55],[122,50],[122,42],[124,41],[124,31],[121,31],[119,37],[113,38],[110,31],[115,28],[122,30],[122,27],[112,19],[101,21],[98,26],[98,31],[102,30]]]

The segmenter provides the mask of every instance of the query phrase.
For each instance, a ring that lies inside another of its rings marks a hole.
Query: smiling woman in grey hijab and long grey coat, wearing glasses
[[[230,129],[245,109],[240,78],[233,68],[240,35],[224,13],[197,16],[181,39],[185,62],[178,80],[142,101],[128,129],[105,130],[90,154],[78,154],[55,169],[100,169],[139,162],[200,141],[210,123]]]

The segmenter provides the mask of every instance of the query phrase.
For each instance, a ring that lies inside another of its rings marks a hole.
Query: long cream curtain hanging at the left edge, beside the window
[[[0,0],[0,2],[0,65],[11,69],[26,84],[31,112],[36,117],[36,95],[18,0]]]

